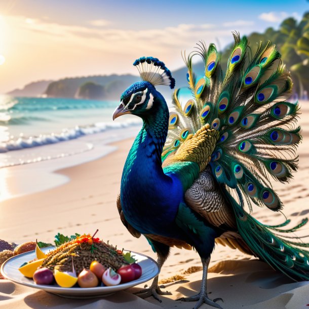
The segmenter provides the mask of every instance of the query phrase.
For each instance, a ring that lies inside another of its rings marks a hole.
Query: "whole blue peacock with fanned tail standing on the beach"
[[[309,280],[309,244],[289,236],[307,219],[265,225],[252,207],[280,211],[274,180],[288,182],[297,169],[298,103],[290,74],[271,42],[253,54],[246,36],[233,33],[235,45],[225,73],[216,46],[201,41],[183,59],[188,87],[176,89],[172,108],[155,88],[171,89],[175,80],[157,58],[134,62],[141,80],[127,88],[113,120],[134,114],[143,121],[127,157],[117,207],[129,232],[144,235],[158,254],[160,267],[170,247],[194,248],[203,277],[196,296],[181,298],[221,308],[207,296],[207,270],[215,243],[254,255],[296,281]],[[197,78],[192,58],[200,56],[205,73]],[[184,99],[187,98],[187,99]],[[185,103],[185,104],[184,104]],[[165,295],[158,277],[145,298]]]

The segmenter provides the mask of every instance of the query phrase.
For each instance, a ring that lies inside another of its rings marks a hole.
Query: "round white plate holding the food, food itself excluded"
[[[42,251],[47,253],[51,250],[54,250],[56,247],[47,247],[43,248]],[[125,251],[128,252],[128,251]],[[6,278],[13,282],[31,287],[36,289],[41,289],[46,292],[54,293],[59,296],[69,297],[69,298],[92,298],[107,296],[113,294],[117,291],[125,290],[131,288],[137,284],[146,282],[154,277],[156,277],[159,272],[159,265],[152,258],[143,255],[141,253],[133,252],[134,258],[137,260],[137,263],[142,267],[142,276],[134,281],[123,283],[115,286],[109,287],[96,287],[96,288],[62,288],[58,284],[54,285],[42,285],[35,284],[32,279],[24,277],[18,270],[18,268],[24,263],[34,259],[35,250],[25,252],[16,256],[13,256],[6,260],[1,266],[1,273]]]

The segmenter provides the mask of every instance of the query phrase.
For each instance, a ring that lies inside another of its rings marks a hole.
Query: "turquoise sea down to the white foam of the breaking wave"
[[[0,97],[0,151],[69,140],[132,124],[112,122],[119,103],[63,98]]]

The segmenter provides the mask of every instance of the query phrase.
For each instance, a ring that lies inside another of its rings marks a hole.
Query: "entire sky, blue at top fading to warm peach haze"
[[[0,93],[40,80],[137,74],[153,56],[173,70],[197,42],[218,49],[241,35],[300,19],[305,0],[0,0]]]

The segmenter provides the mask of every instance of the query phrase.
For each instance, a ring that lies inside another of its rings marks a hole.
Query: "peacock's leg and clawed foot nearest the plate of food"
[[[168,254],[169,254],[169,250],[170,247],[161,244],[161,243],[157,243],[154,241],[151,241],[152,245],[155,247],[157,254],[158,254],[158,264],[160,269],[162,268],[164,262],[166,261]],[[138,294],[138,296],[140,298],[147,298],[152,296],[153,298],[159,300],[160,302],[162,302],[162,300],[159,298],[159,295],[172,295],[171,292],[168,291],[161,291],[159,285],[158,285],[158,281],[159,281],[159,275],[157,277],[155,277],[155,279],[153,279],[152,284],[149,288],[147,289],[142,289],[134,294]]]

